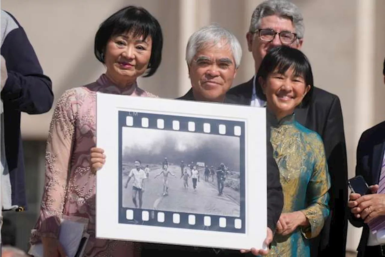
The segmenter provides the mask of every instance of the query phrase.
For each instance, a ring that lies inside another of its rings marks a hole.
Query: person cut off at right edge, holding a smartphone
[[[385,84],[385,60],[383,63]],[[385,254],[385,121],[362,133],[357,146],[356,176],[363,176],[370,193],[350,194],[349,220],[363,227],[358,245],[358,257]],[[383,254],[382,254],[383,253]]]

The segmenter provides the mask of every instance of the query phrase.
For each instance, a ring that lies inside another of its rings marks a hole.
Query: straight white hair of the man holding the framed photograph
[[[242,58],[241,44],[239,44],[238,39],[233,33],[216,24],[202,27],[190,36],[186,47],[187,64],[190,65],[196,53],[204,47],[215,46],[223,41],[230,47],[233,53],[235,67],[238,68]]]

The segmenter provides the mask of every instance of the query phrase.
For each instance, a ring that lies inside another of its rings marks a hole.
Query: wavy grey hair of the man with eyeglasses
[[[260,29],[259,22],[261,19],[270,15],[290,19],[293,22],[297,38],[303,38],[305,25],[303,25],[301,11],[294,3],[288,0],[267,0],[260,3],[251,16],[249,32],[255,32],[255,30]]]

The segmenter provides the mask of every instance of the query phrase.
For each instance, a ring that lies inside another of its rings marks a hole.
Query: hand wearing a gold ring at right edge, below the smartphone
[[[367,194],[357,200],[357,211],[365,223],[385,215],[385,194]]]

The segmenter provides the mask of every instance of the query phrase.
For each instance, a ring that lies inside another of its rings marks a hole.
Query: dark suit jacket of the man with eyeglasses
[[[231,88],[228,97],[250,105],[252,92],[253,79]],[[258,83],[256,94],[261,99],[265,98]],[[341,104],[338,96],[316,87],[307,99],[296,108],[295,117],[299,123],[322,137],[331,177],[330,216],[320,235],[311,240],[311,256],[332,254],[331,256],[345,257],[348,168]]]

